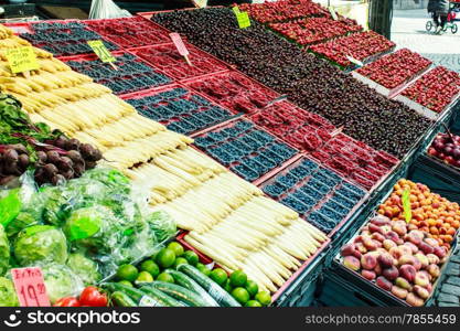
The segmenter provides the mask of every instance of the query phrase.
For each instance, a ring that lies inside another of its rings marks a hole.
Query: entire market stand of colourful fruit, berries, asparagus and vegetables
[[[0,25],[0,306],[21,270],[60,307],[454,301],[458,74],[310,0],[239,10]]]

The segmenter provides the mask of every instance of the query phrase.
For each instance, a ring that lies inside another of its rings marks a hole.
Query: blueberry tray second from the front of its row
[[[297,154],[297,150],[238,120],[195,138],[194,145],[247,181],[255,181]]]

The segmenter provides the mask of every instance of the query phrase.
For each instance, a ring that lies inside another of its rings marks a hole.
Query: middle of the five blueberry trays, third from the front
[[[185,88],[173,88],[126,102],[141,115],[183,135],[200,131],[233,117],[228,110],[214,106]]]

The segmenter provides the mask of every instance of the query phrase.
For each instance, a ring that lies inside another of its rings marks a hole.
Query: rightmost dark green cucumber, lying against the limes
[[[203,275],[199,269],[191,265],[179,265],[178,270],[195,280],[204,288],[214,300],[223,307],[242,307],[226,290],[210,277]]]

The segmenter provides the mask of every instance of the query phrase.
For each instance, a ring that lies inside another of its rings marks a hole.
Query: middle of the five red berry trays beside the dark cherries
[[[235,113],[255,113],[277,97],[274,92],[235,72],[201,78],[186,86]]]

